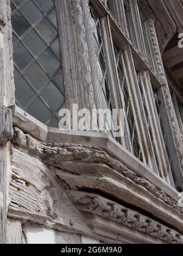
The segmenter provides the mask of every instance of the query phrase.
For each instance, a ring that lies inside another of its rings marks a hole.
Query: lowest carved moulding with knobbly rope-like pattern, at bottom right
[[[87,192],[72,191],[73,203],[81,211],[102,216],[170,244],[183,244],[183,236],[145,215],[123,207],[104,197]]]

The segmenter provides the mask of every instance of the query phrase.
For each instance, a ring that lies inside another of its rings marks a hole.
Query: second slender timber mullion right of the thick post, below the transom
[[[140,89],[138,88],[137,74],[135,72],[131,48],[127,47],[123,49],[123,59],[124,73],[126,74],[126,82],[129,88],[129,96],[131,97],[143,160],[152,171],[157,172],[156,159],[154,158],[152,143],[145,122],[145,111],[140,96]]]

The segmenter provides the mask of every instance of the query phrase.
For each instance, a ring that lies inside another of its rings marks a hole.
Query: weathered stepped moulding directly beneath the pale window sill
[[[178,202],[168,197],[165,192],[157,189],[145,178],[138,177],[101,148],[40,142],[29,134],[24,134],[18,128],[15,128],[14,134],[12,141],[14,151],[22,152],[21,155],[27,152],[27,155],[32,156],[33,159],[37,159],[37,161],[39,159],[38,166],[42,163],[41,165],[45,164],[49,167],[44,174],[51,172],[49,175],[59,176],[60,180],[65,182],[66,189],[95,189],[95,191],[105,192],[106,196],[115,197],[118,201],[126,200],[131,205],[149,211],[157,218],[183,232],[181,215],[183,210],[178,207]],[[12,159],[13,164],[16,164],[18,157],[15,153],[12,154]],[[26,166],[29,166],[28,161]],[[34,165],[29,167],[27,174],[32,167]],[[20,168],[24,169],[24,167],[18,167],[17,170],[19,171]],[[23,170],[21,172],[24,174]],[[24,174],[24,177],[27,174]],[[35,184],[37,183],[35,182],[33,186]],[[43,197],[41,198],[43,199]],[[16,210],[13,214],[17,212]],[[40,213],[41,211],[36,214]],[[19,218],[20,216],[21,214]],[[13,215],[13,217],[15,216]]]

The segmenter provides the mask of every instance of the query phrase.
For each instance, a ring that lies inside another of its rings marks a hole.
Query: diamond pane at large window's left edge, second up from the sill
[[[32,56],[20,42],[14,45],[13,57],[20,70],[23,70],[32,60]]]

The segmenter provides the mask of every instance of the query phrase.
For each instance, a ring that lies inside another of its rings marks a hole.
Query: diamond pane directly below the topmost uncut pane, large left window
[[[29,34],[24,37],[23,42],[29,47],[35,56],[38,56],[38,54],[40,54],[40,52],[46,46],[43,40],[41,40],[34,30],[30,31]]]

